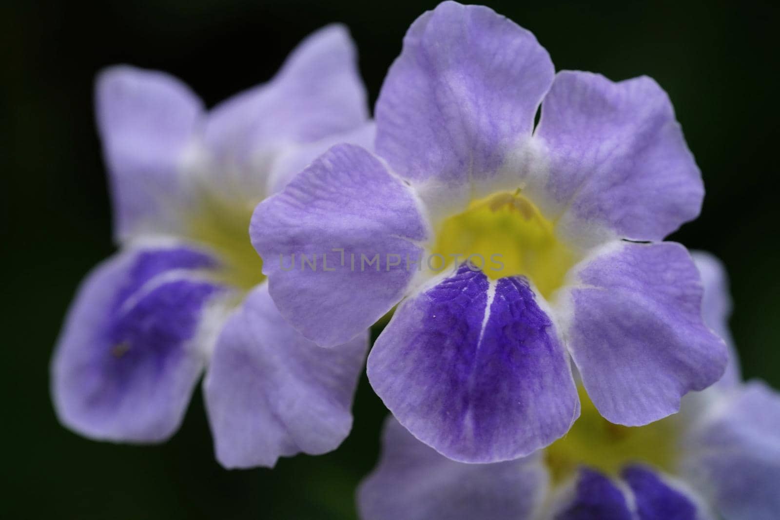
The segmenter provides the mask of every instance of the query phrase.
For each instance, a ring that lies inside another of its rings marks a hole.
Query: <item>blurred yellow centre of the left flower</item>
[[[224,268],[218,280],[249,290],[265,279],[263,260],[252,247],[249,225],[254,205],[229,203],[215,196],[202,196],[188,221],[188,238],[214,250]]]

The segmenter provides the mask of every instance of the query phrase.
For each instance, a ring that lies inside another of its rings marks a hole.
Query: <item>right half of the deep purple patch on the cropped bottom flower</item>
[[[697,520],[695,501],[681,490],[665,483],[651,469],[632,465],[623,469],[622,478],[633,491],[640,520]]]

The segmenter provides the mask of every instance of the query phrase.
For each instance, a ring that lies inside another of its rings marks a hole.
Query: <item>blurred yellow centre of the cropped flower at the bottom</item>
[[[565,437],[544,451],[556,482],[566,479],[579,466],[617,476],[627,464],[643,462],[666,471],[675,468],[678,425],[674,416],[647,426],[621,426],[601,417],[580,387],[580,419]]]

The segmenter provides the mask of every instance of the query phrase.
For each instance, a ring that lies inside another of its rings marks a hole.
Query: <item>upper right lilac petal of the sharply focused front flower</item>
[[[551,216],[568,235],[595,225],[601,234],[660,240],[699,214],[699,168],[651,78],[558,73],[534,137],[547,151]]]

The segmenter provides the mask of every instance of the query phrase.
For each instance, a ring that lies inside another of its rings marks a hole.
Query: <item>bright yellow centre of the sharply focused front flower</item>
[[[579,260],[519,189],[474,200],[466,211],[445,220],[431,253],[443,256],[446,265],[469,258],[494,280],[522,274],[545,298]]]

